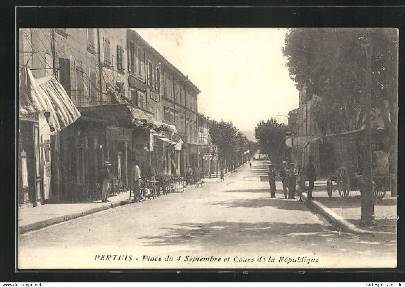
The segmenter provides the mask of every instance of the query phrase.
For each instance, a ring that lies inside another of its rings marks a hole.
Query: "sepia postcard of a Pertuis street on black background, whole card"
[[[396,28],[17,33],[18,269],[396,267]]]

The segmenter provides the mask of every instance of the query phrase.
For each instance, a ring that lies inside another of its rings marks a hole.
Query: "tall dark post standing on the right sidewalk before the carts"
[[[364,95],[364,108],[366,116],[366,146],[364,157],[364,181],[361,197],[361,221],[360,226],[374,225],[374,198],[373,179],[371,177],[372,157],[371,157],[371,53],[373,45],[367,44],[366,49],[367,74],[366,74],[366,94]]]

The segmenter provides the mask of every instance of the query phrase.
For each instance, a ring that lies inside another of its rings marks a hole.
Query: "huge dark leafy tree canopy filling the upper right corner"
[[[286,35],[283,54],[290,77],[315,96],[313,116],[326,133],[364,124],[366,55],[373,45],[372,106],[394,132],[397,117],[398,31],[387,28],[299,28]],[[342,121],[342,119],[345,119]]]

